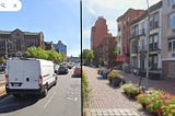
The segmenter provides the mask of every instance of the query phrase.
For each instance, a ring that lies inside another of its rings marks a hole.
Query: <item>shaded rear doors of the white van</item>
[[[33,90],[39,88],[37,60],[10,60],[8,73],[10,89]]]

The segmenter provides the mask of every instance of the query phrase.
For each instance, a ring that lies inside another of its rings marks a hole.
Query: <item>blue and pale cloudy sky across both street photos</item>
[[[149,0],[154,4],[160,0]],[[79,56],[80,40],[80,0],[21,0],[20,11],[0,11],[0,30],[43,32],[46,42],[62,40],[68,56]],[[109,33],[117,35],[116,19],[129,8],[147,9],[147,0],[82,0],[83,5],[83,46],[90,49],[91,27],[98,16],[107,21]]]

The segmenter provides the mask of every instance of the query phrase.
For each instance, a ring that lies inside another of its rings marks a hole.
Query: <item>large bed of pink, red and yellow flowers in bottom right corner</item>
[[[159,116],[175,116],[175,95],[164,91],[151,89],[137,96],[140,104],[147,104],[150,113]]]

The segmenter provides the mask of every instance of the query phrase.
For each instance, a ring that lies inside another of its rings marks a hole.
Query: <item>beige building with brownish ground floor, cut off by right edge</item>
[[[162,2],[162,73],[164,78],[175,78],[175,0]]]

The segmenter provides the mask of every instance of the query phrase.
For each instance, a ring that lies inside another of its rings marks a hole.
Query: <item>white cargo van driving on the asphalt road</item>
[[[5,70],[7,93],[21,96],[26,93],[47,95],[51,85],[56,85],[57,77],[54,62],[43,59],[9,59]]]

